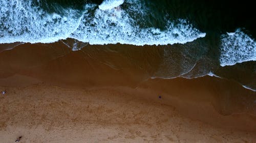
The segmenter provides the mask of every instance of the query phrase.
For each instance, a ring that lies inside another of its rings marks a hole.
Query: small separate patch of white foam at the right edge
[[[221,66],[256,61],[256,42],[241,29],[222,35],[221,42]]]

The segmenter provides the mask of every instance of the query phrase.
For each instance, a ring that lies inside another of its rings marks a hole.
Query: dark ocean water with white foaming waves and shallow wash
[[[158,47],[152,78],[210,75],[256,90],[255,24],[247,1],[1,0],[0,44],[8,46],[0,51],[54,42]]]

